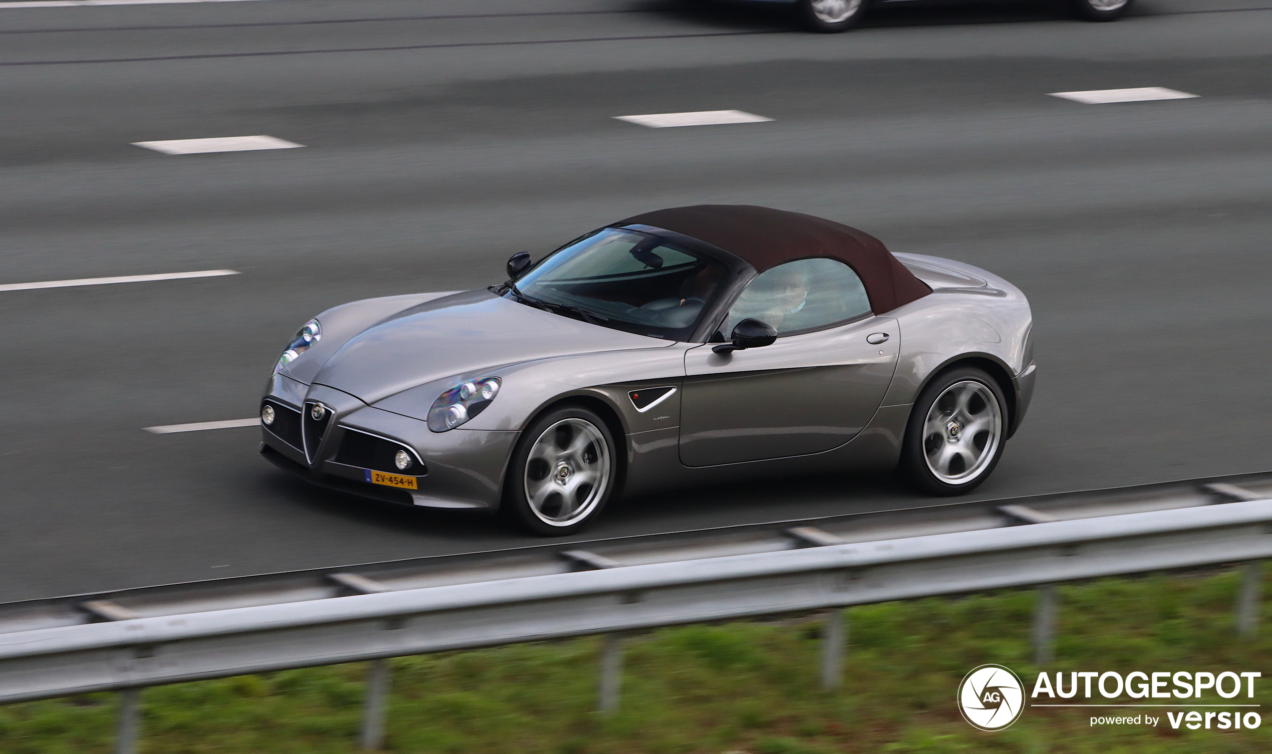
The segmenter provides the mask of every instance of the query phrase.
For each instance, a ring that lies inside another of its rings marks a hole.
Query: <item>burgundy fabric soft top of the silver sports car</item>
[[[696,205],[655,210],[614,225],[651,225],[703,240],[763,272],[785,262],[829,257],[852,267],[876,314],[932,292],[883,242],[831,220],[749,205]]]

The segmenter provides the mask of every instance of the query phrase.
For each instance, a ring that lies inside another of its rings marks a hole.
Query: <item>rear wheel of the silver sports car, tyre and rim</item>
[[[963,495],[981,486],[1002,458],[1007,401],[999,383],[972,367],[937,375],[909,412],[901,469],[920,492]]]

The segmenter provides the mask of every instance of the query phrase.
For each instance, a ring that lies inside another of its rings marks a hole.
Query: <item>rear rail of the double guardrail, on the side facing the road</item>
[[[1205,507],[1216,502],[1257,498],[1272,498],[1272,473],[1009,500],[929,504],[903,510],[599,540],[555,540],[502,551],[342,565],[0,604],[0,634],[326,600],[375,591],[546,576],[618,565],[683,562],[837,543],[1001,529],[1053,520]],[[775,506],[775,510],[780,510],[780,506]]]

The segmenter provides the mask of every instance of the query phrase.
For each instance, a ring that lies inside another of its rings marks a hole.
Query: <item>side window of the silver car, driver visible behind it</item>
[[[742,291],[725,320],[724,336],[752,317],[777,334],[826,327],[870,312],[861,278],[843,262],[799,259],[768,270]]]

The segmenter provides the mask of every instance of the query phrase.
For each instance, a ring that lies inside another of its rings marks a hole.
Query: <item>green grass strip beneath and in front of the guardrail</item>
[[[1238,573],[1158,575],[1061,589],[1057,670],[1259,670],[1272,685],[1272,624],[1234,637]],[[954,690],[1000,662],[1030,684],[1032,591],[848,610],[846,685],[820,692],[815,620],[668,628],[627,645],[622,709],[595,703],[595,637],[393,661],[388,749],[518,754],[1255,754],[1257,730],[1090,727],[1088,711],[1027,709],[973,730]],[[356,750],[364,665],[291,670],[144,692],[141,751],[327,754]],[[1243,694],[1244,696],[1244,694]],[[1077,699],[1075,699],[1077,701]],[[1203,699],[1206,701],[1206,699]],[[1208,699],[1211,702],[1217,699]],[[114,697],[0,707],[3,754],[111,751]],[[1267,713],[1264,712],[1264,717]]]

